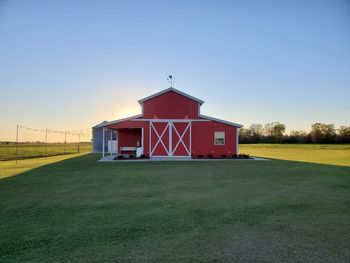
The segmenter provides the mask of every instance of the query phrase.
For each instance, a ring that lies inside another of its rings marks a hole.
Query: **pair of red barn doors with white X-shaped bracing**
[[[151,122],[150,156],[191,156],[191,122]]]

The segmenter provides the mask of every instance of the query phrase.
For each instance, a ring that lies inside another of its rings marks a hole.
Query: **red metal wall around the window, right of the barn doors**
[[[225,145],[214,145],[216,131],[225,132]],[[192,155],[232,155],[236,153],[236,147],[236,127],[215,121],[192,123]]]

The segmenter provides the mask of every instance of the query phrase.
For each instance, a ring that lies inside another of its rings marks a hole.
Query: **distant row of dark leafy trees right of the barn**
[[[350,126],[336,129],[334,124],[314,123],[311,131],[291,131],[280,122],[252,124],[239,129],[240,143],[350,143]]]

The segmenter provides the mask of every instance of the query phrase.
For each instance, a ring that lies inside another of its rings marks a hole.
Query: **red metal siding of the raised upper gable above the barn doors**
[[[173,91],[143,103],[143,117],[159,119],[198,118],[199,103]]]

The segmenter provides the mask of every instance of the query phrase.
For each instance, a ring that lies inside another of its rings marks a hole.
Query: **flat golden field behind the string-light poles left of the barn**
[[[17,148],[17,149],[16,149]],[[0,161],[40,158],[91,152],[91,143],[14,143],[0,144]]]

